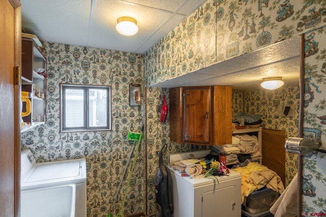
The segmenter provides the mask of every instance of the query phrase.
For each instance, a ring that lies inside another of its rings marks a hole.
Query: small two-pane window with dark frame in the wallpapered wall
[[[61,132],[111,130],[111,88],[61,85]]]

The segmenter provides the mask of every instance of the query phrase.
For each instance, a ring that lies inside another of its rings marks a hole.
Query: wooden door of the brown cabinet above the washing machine
[[[183,142],[210,144],[212,129],[211,87],[184,87]]]

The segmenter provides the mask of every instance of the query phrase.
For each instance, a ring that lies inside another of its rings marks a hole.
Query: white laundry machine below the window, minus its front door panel
[[[86,217],[86,160],[36,163],[29,149],[21,152],[21,191],[75,184],[75,217]]]

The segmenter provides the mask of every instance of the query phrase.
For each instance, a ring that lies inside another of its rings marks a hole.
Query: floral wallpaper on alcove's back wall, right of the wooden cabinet
[[[264,128],[284,130],[286,138],[297,137],[299,94],[298,86],[281,87],[276,90],[234,90],[232,92],[232,112],[233,115],[241,111],[248,114],[259,114]],[[292,107],[294,116],[283,116],[277,113],[277,108],[282,103]],[[291,182],[296,173],[297,155],[286,152],[285,186]]]

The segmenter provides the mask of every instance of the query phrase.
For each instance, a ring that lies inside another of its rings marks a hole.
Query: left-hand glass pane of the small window
[[[65,100],[66,127],[84,127],[84,90],[66,88]]]

